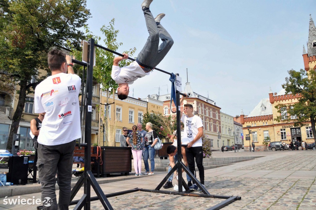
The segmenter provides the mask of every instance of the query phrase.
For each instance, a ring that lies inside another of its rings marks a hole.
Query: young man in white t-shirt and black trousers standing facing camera
[[[185,99],[186,97],[182,97]],[[181,104],[181,103],[180,103]],[[181,121],[184,123],[184,138],[182,144],[187,144],[185,147],[185,155],[189,164],[189,169],[192,174],[195,172],[195,162],[200,175],[200,182],[204,185],[204,166],[203,166],[203,149],[202,149],[202,136],[203,136],[203,121],[199,116],[193,114],[193,106],[191,104],[184,105],[184,114],[181,113]],[[194,183],[189,189],[198,190],[197,185]],[[201,191],[201,190],[200,190]],[[202,191],[201,191],[202,192]]]

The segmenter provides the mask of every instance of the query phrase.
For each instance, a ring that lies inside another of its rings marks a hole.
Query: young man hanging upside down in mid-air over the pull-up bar
[[[150,71],[161,62],[173,45],[173,40],[170,34],[160,24],[160,21],[165,14],[161,13],[154,19],[154,16],[149,10],[149,5],[152,1],[153,0],[144,0],[142,3],[142,10],[145,15],[149,37],[142,51],[138,54],[136,61],[128,66],[120,68],[119,62],[123,59],[127,59],[128,55],[123,53],[124,57],[119,56],[113,60],[111,77],[119,84],[117,92],[118,97],[121,100],[128,97],[128,85],[132,84],[138,78],[149,75]],[[162,40],[162,43],[159,46],[160,39]]]

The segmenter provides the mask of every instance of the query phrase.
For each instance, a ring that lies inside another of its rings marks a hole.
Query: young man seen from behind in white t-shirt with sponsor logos
[[[81,78],[75,74],[71,62],[70,56],[61,50],[51,50],[48,53],[48,66],[52,76],[35,88],[35,113],[46,113],[37,139],[42,201],[49,197],[51,200],[47,203],[52,202],[50,207],[44,206],[44,209],[68,209],[70,203],[75,140],[81,138],[78,100]]]

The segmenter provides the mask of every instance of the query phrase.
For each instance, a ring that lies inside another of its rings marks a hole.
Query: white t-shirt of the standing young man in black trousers
[[[193,117],[188,117],[185,114],[182,114],[181,121],[184,123],[184,135],[182,139],[182,144],[188,144],[193,141],[197,136],[197,128],[203,127],[202,119],[196,115]],[[202,138],[198,139],[192,147],[202,146]]]

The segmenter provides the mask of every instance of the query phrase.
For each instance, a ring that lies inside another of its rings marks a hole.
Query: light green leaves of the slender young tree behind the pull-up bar
[[[105,44],[105,47],[114,51],[117,51],[119,49],[119,46],[121,46],[122,42],[117,42],[116,37],[119,33],[119,30],[114,29],[114,22],[115,19],[113,18],[111,22],[109,22],[109,26],[103,25],[100,28],[100,31],[104,35],[104,39],[102,40]],[[88,39],[93,38],[94,42],[96,44],[100,43],[101,37],[94,35],[88,28],[88,26],[85,26],[85,40],[88,41]],[[68,42],[68,46],[71,48],[72,55],[75,59],[81,60],[82,59],[82,49],[76,50],[75,46],[72,45],[70,42]],[[129,51],[125,51],[123,53],[127,53],[131,56],[135,53],[136,48],[132,48]],[[106,50],[103,50],[99,47],[95,47],[95,66],[93,68],[93,77],[94,81],[101,84],[102,90],[106,89],[117,89],[118,84],[112,79],[111,72],[112,72],[112,65],[113,65],[113,59],[114,54],[112,52],[108,52]],[[129,65],[132,61],[130,60],[122,60],[119,62],[119,65],[126,66]],[[81,70],[82,66],[76,66],[75,69],[78,71]]]

